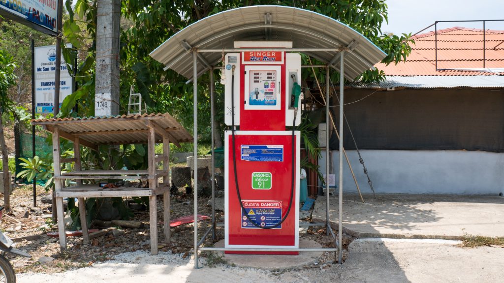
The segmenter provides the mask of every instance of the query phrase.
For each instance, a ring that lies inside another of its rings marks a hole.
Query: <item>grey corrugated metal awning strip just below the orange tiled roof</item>
[[[357,89],[390,88],[504,88],[504,76],[415,76],[386,77],[385,82],[375,84],[353,83],[349,87]]]

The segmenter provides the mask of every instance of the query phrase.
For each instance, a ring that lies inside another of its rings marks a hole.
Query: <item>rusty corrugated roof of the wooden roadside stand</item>
[[[193,136],[168,113],[51,118],[31,122],[32,125],[43,125],[50,132],[57,127],[61,137],[69,140],[79,137],[80,143],[87,147],[147,143],[150,127],[155,129],[156,142],[162,142],[164,135],[175,145],[193,141]]]

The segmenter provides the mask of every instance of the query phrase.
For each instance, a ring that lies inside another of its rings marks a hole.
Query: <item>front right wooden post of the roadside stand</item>
[[[148,154],[148,172],[149,172],[149,189],[154,192],[149,196],[149,223],[151,230],[151,254],[157,255],[157,205],[156,205],[156,162],[154,152],[155,133],[153,128],[149,128],[147,136],[147,154]]]

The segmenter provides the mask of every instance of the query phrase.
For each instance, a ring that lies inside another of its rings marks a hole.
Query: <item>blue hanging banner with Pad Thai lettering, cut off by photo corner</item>
[[[57,0],[0,0],[0,14],[38,30],[56,33]]]

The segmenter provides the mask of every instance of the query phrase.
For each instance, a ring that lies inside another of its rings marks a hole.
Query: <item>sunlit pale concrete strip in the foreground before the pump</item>
[[[456,241],[357,239],[349,246],[343,265],[318,266],[273,272],[219,264],[213,268],[181,254],[147,251],[124,253],[91,267],[54,274],[18,274],[20,283],[124,282],[502,282],[504,248],[460,248]]]

